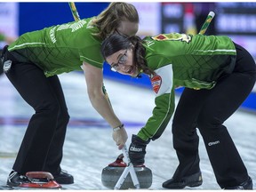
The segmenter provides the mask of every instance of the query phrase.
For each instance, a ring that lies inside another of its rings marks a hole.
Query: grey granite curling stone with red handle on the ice
[[[126,167],[126,163],[124,163],[123,158],[124,155],[121,154],[116,158],[115,162],[108,164],[108,166],[102,170],[101,182],[106,188],[115,188],[117,180],[119,180],[121,174],[124,172],[124,168]],[[134,166],[134,170],[140,182],[140,188],[150,188],[150,186],[152,185],[151,170],[145,165]],[[124,183],[120,189],[128,188],[135,188],[132,182],[130,172],[125,178]]]

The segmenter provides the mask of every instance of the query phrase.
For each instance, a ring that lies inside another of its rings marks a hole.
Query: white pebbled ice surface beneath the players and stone
[[[69,73],[60,76],[66,95],[69,115],[64,145],[62,169],[74,175],[75,184],[63,185],[67,189],[106,190],[101,184],[101,171],[121,153],[112,140],[108,124],[92,108],[86,93],[84,76]],[[105,80],[108,96],[116,115],[124,122],[129,134],[137,133],[151,116],[154,93],[151,90]],[[0,182],[6,182],[12,170],[14,156],[20,148],[26,124],[33,110],[23,101],[6,76],[0,77]],[[176,100],[179,100],[177,97]],[[225,123],[236,143],[252,180],[256,181],[256,114],[237,111]],[[209,163],[202,138],[199,147],[204,183],[197,190],[220,189]],[[164,189],[162,183],[172,177],[178,161],[172,148],[171,124],[163,136],[147,148],[146,165],[153,172],[152,189]],[[185,188],[188,189],[188,188]]]

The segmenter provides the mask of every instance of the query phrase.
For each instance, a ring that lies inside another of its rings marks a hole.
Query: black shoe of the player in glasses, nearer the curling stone
[[[179,189],[179,188],[185,188],[185,187],[198,187],[201,186],[203,183],[202,179],[202,173],[196,172],[195,174],[192,174],[187,177],[183,177],[180,180],[175,180],[175,178],[172,178],[171,180],[166,180],[162,187],[163,188],[170,188],[170,189]]]

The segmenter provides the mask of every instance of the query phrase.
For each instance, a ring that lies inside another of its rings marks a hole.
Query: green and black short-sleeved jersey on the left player
[[[10,44],[8,50],[20,61],[35,63],[45,76],[82,70],[83,61],[102,68],[101,40],[92,35],[99,29],[92,26],[92,19],[28,32]]]

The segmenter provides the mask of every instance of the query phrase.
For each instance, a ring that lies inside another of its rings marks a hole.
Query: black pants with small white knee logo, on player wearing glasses
[[[200,170],[196,127],[220,188],[237,186],[248,179],[244,163],[223,125],[252,92],[256,79],[252,56],[237,44],[236,52],[234,71],[222,77],[212,90],[186,88],[182,92],[172,123],[173,147],[180,162],[173,177],[178,180]]]

